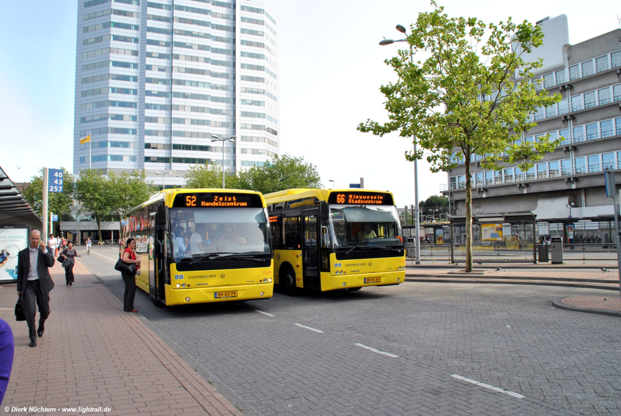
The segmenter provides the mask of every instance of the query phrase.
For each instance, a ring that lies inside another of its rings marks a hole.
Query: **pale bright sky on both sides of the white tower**
[[[83,1],[83,0],[81,0]],[[243,1],[243,0],[238,0]],[[485,22],[532,22],[566,14],[569,42],[619,28],[619,2],[438,1],[449,15]],[[365,178],[365,188],[390,190],[398,205],[414,203],[411,141],[356,131],[371,118],[387,120],[379,86],[394,81],[383,60],[400,44],[396,24],[409,25],[427,1],[265,0],[279,19],[282,150],[317,165],[324,185]],[[76,0],[0,0],[0,166],[16,182],[40,167],[73,170]],[[401,44],[403,45],[403,44]],[[619,44],[621,48],[621,43]],[[19,169],[18,169],[19,166]],[[421,199],[437,194],[446,174],[419,163]]]

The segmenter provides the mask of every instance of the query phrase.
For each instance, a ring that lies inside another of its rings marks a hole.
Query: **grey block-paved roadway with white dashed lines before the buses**
[[[122,299],[117,259],[94,247],[80,261]],[[602,295],[404,283],[162,309],[138,290],[135,306],[248,415],[621,414],[621,321],[550,304]]]

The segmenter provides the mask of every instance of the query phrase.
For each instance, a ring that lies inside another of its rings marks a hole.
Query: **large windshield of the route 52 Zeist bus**
[[[171,208],[169,216],[176,261],[206,254],[270,255],[263,208]]]

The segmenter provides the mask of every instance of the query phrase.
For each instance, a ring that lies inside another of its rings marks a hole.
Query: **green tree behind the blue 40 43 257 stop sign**
[[[48,193],[48,212],[58,215],[60,220],[71,219],[70,207],[73,205],[73,195],[75,193],[76,181],[64,167],[63,170],[63,192],[49,192]],[[39,170],[39,175],[30,178],[30,185],[24,189],[22,195],[28,201],[32,209],[39,216],[43,216],[43,169]],[[54,223],[60,231],[59,223]],[[57,232],[58,232],[57,231]],[[50,234],[56,232],[50,230]]]

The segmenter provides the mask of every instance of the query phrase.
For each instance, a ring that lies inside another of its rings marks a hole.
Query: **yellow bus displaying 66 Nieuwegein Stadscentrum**
[[[289,189],[265,195],[282,290],[398,285],[406,277],[399,214],[390,192]]]

